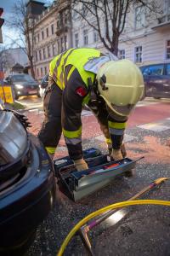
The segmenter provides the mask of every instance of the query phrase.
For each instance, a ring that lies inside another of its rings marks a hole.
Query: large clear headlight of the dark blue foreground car
[[[27,133],[14,113],[0,111],[0,166],[20,158],[27,148]]]

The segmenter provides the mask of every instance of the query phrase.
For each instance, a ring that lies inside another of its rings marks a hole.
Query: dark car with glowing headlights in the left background
[[[20,96],[40,96],[38,83],[29,74],[14,73],[9,75],[3,81],[4,84],[12,85],[15,99],[18,99]]]

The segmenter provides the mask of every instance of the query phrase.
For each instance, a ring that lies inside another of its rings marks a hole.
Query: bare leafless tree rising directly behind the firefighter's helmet
[[[71,9],[98,32],[105,48],[115,55],[118,54],[119,38],[132,6],[143,7],[145,16],[156,16],[161,13],[161,1],[158,0],[71,0]]]

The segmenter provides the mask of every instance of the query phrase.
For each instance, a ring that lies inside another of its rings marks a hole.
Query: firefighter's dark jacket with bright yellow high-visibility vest
[[[99,58],[101,52],[97,49],[68,49],[57,55],[49,65],[49,77],[63,91],[62,99],[62,131],[69,154],[73,160],[82,157],[82,105],[88,104],[106,137],[106,143],[112,143],[113,148],[120,148],[126,126],[126,119],[117,121],[107,112],[105,102],[99,97],[95,104],[90,100],[88,81],[94,84],[95,73],[86,71],[84,65],[91,59]],[[57,108],[57,103],[56,103]],[[49,131],[50,132],[50,131]],[[48,153],[53,154],[52,147],[46,145]]]

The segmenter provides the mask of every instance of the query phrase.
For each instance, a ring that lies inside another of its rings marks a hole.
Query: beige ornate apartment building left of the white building
[[[36,17],[33,38],[34,68],[39,81],[48,74],[49,62],[54,56],[72,47],[69,10],[70,1],[54,1]]]

